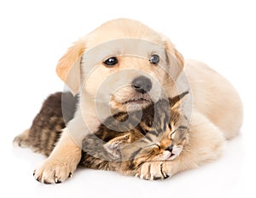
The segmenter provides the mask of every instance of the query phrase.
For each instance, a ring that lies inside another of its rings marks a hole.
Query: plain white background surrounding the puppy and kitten
[[[0,196],[256,197],[255,10],[247,0],[1,1]],[[244,104],[241,135],[227,143],[220,160],[165,181],[79,169],[63,184],[39,184],[32,171],[44,157],[13,148],[12,139],[30,126],[49,93],[63,89],[55,65],[72,42],[120,17],[164,33],[185,58],[202,60],[228,78]]]

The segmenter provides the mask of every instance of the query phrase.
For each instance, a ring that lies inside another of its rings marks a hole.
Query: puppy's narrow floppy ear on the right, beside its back
[[[166,46],[166,56],[169,61],[169,64],[172,65],[170,68],[171,69],[170,74],[172,76],[172,79],[176,80],[180,72],[183,71],[183,66],[184,66],[183,55],[177,51],[177,49],[169,40],[169,38],[165,36],[163,37],[164,37],[164,43]]]

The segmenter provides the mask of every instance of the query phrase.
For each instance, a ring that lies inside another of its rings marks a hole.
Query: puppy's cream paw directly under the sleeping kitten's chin
[[[159,180],[169,178],[171,175],[166,173],[164,165],[164,161],[145,162],[143,163],[143,166],[138,170],[136,177],[146,180]]]

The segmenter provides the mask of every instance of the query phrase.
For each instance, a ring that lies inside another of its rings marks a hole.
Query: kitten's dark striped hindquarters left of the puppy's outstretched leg
[[[21,133],[14,139],[15,144],[30,147],[35,152],[49,156],[61,137],[62,129],[73,118],[76,101],[77,98],[71,93],[58,92],[49,95],[35,116],[32,126],[26,133]]]

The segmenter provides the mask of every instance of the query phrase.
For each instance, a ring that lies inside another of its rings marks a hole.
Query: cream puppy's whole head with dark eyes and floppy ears
[[[136,20],[111,20],[75,42],[56,71],[73,94],[113,109],[148,105],[170,95],[183,57],[163,35]]]

